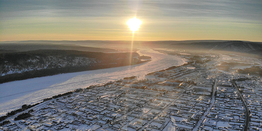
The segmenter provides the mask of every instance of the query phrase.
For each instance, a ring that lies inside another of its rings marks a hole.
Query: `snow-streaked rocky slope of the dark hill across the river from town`
[[[29,59],[20,60],[19,63],[5,61],[0,75],[48,68],[91,66],[98,63],[101,63],[101,61],[87,57],[33,56]]]

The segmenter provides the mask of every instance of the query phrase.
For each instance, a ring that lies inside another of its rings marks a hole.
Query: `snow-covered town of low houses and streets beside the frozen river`
[[[261,131],[262,79],[212,65],[188,62],[78,88],[14,115],[0,130]],[[30,116],[18,119],[23,113]]]

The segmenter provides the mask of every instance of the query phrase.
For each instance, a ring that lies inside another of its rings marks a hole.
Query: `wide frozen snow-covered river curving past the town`
[[[138,53],[140,56],[151,56],[152,61],[137,65],[58,74],[0,84],[0,116],[20,108],[24,104],[40,102],[44,98],[72,91],[76,88],[84,88],[130,76],[139,76],[139,79],[143,79],[147,73],[186,63],[183,58],[159,53],[151,49],[141,49]]]

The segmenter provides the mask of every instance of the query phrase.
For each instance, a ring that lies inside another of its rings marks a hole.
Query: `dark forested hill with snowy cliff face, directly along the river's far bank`
[[[75,50],[34,50],[0,54],[0,83],[142,63],[138,53],[102,53]]]

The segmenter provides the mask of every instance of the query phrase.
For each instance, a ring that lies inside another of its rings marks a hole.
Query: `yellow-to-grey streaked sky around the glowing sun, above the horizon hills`
[[[1,0],[0,41],[262,41],[261,0]]]

